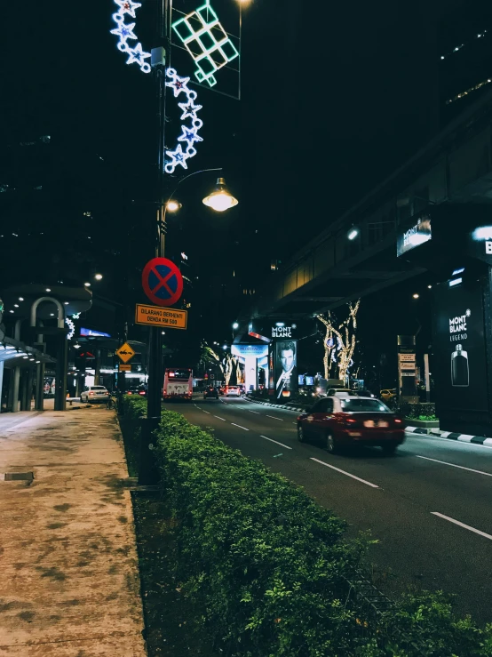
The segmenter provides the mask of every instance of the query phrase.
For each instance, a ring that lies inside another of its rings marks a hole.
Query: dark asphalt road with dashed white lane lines
[[[232,397],[165,406],[304,486],[348,536],[370,530],[380,589],[442,589],[461,613],[492,621],[492,448],[407,434],[394,456],[330,455],[298,442],[298,413]]]

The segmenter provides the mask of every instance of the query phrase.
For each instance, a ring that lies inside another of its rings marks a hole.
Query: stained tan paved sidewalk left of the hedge
[[[0,415],[1,657],[145,656],[127,477],[114,411]]]

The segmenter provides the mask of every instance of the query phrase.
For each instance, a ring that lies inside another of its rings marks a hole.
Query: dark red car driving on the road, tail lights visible
[[[405,440],[405,425],[378,399],[323,397],[298,416],[298,439],[316,440],[329,453],[350,445],[378,445],[394,453]]]

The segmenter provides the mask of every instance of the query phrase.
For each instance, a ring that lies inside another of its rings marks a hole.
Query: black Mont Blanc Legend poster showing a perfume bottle
[[[439,410],[487,411],[487,365],[480,283],[435,288],[434,360]]]

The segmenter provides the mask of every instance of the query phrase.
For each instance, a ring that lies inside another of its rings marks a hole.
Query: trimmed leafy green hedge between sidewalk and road
[[[403,597],[375,626],[347,585],[367,541],[343,541],[342,520],[179,413],[163,412],[155,455],[175,584],[203,610],[218,654],[492,655],[492,628],[456,618],[439,593]]]

